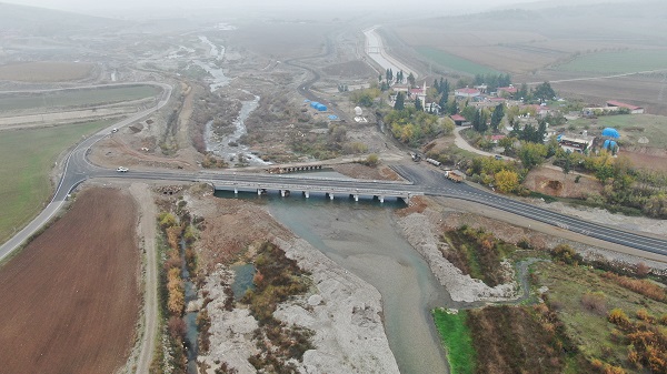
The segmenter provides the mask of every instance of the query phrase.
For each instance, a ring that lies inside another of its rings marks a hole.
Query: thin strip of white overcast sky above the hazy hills
[[[516,3],[536,2],[536,0],[0,0],[1,2],[43,7],[50,9],[60,9],[68,11],[77,11],[82,13],[103,14],[106,10],[130,10],[130,9],[197,9],[197,8],[239,8],[249,7],[253,11],[258,9],[271,10],[290,10],[293,9],[331,9],[344,10],[348,8],[350,11],[369,10],[369,9],[406,9],[414,11],[422,11],[428,14],[435,9],[448,9],[450,11],[480,11],[485,9],[497,8]],[[571,3],[589,3],[601,2],[603,0],[567,0]],[[551,2],[554,6],[560,4],[564,1]],[[149,17],[149,14],[146,14]],[[435,14],[430,14],[435,16]]]

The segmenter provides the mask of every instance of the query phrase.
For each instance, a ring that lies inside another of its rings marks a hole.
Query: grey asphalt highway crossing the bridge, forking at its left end
[[[596,237],[606,242],[634,247],[637,250],[650,252],[659,255],[667,255],[667,240],[661,237],[653,237],[649,235],[638,234],[634,232],[621,231],[615,228],[587,222],[585,220],[569,216],[561,213],[556,213],[547,209],[534,206],[514,199],[509,199],[496,193],[472,188],[466,183],[454,183],[445,178],[442,173],[429,170],[418,164],[404,164],[394,166],[395,170],[406,178],[406,182],[386,182],[386,181],[360,181],[352,179],[321,179],[300,175],[285,174],[258,174],[243,173],[235,171],[140,171],[130,170],[126,173],[119,173],[115,170],[103,169],[91,164],[87,159],[87,153],[90,148],[108,137],[112,128],[121,128],[129,125],[142,118],[146,118],[153,111],[167,104],[171,95],[171,87],[168,84],[158,84],[163,89],[162,95],[158,104],[142,112],[122,120],[106,130],[102,130],[94,135],[83,140],[77,145],[66,159],[63,174],[53,199],[44,208],[44,210],[28,224],[18,234],[11,237],[8,242],[0,246],[0,261],[7,257],[13,250],[19,247],[28,237],[40,230],[49,220],[62,208],[68,194],[81,182],[89,179],[113,178],[113,179],[135,179],[135,180],[162,180],[162,181],[182,181],[182,182],[203,182],[210,184],[229,185],[236,184],[256,185],[281,185],[285,189],[295,191],[303,191],[308,188],[313,190],[336,189],[340,190],[361,190],[387,192],[387,195],[400,195],[408,192],[415,195],[426,194],[432,196],[445,196],[451,199],[467,200],[480,203],[487,206],[492,206],[502,211],[511,212],[524,218],[547,223],[549,225],[568,230],[578,234]],[[316,189],[317,188],[317,189]]]

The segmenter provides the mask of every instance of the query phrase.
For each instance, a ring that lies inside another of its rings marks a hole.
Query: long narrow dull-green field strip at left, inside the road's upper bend
[[[94,107],[156,97],[159,88],[152,85],[109,87],[52,91],[46,93],[13,93],[0,95],[0,111],[37,108]]]

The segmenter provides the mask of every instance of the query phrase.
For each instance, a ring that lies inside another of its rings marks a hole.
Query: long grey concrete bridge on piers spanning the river
[[[312,180],[315,182],[315,180]],[[322,183],[323,180],[317,180],[317,183],[309,183],[308,180],[299,179],[291,180],[285,179],[285,182],[250,182],[250,181],[221,181],[216,180],[210,183],[213,185],[216,191],[233,191],[238,194],[239,191],[257,191],[257,194],[265,194],[268,191],[278,191],[282,198],[287,198],[293,192],[300,192],[306,196],[310,198],[310,193],[319,192],[323,193],[330,200],[335,196],[349,196],[359,201],[360,196],[377,198],[381,203],[385,202],[386,198],[402,199],[406,203],[409,203],[411,196],[424,195],[421,191],[414,191],[414,189],[401,189],[400,184],[392,188],[385,188],[378,183],[377,186],[372,185],[372,182],[355,183],[351,181],[330,180],[331,183]],[[344,182],[344,183],[341,183]],[[347,183],[345,183],[347,182]],[[347,185],[346,185],[347,184]],[[406,185],[407,186],[407,185]],[[412,191],[410,191],[412,190]]]

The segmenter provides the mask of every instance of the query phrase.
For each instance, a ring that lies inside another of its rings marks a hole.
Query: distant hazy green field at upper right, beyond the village
[[[667,50],[638,50],[584,54],[556,67],[559,71],[623,74],[667,69]]]

